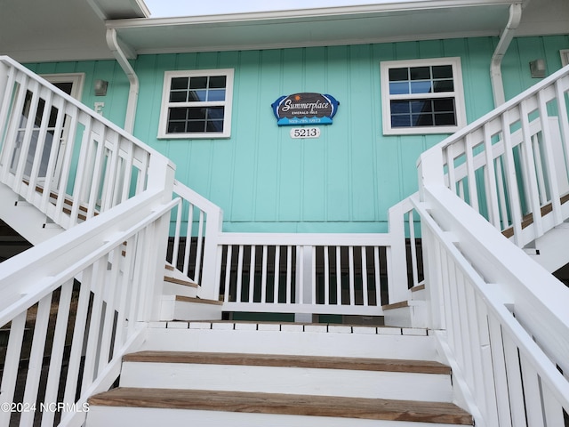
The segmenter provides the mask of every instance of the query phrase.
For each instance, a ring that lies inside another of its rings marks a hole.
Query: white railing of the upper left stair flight
[[[66,230],[160,185],[164,164],[173,167],[7,57],[0,57],[0,148],[0,181]]]

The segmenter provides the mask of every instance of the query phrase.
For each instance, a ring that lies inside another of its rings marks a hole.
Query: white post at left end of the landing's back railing
[[[200,297],[217,301],[220,298],[220,274],[221,260],[218,260],[218,246],[221,227],[223,224],[223,212],[220,209],[207,211],[205,222],[204,239],[204,262],[200,279]]]

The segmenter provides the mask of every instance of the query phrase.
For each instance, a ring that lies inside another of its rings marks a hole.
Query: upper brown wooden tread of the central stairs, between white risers
[[[306,367],[358,371],[406,372],[450,375],[451,368],[429,360],[366,359],[250,353],[194,351],[139,351],[124,356],[125,362],[191,363],[262,367]]]

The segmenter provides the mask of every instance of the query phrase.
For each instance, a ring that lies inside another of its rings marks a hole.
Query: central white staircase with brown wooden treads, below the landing
[[[436,359],[424,329],[156,323],[86,425],[472,425]]]

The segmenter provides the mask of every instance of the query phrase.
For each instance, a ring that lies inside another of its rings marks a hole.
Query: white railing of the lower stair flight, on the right
[[[429,251],[433,327],[445,330],[445,357],[472,398],[461,403],[480,414],[477,425],[511,425],[525,412],[557,425],[569,409],[557,369],[569,368],[569,290],[451,191],[423,191],[413,203]]]

